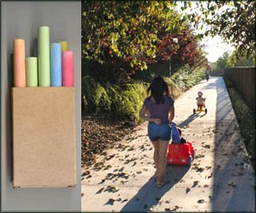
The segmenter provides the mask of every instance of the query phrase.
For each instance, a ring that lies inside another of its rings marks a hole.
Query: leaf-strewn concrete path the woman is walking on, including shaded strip
[[[198,91],[207,114],[193,114]],[[196,149],[192,166],[168,166],[169,183],[157,189],[144,122],[94,167],[82,168],[82,211],[255,210],[254,172],[224,80],[201,81],[176,100],[175,109],[174,122]]]

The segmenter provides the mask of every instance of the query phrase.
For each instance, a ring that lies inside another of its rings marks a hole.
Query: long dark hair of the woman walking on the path
[[[155,77],[155,79],[153,79],[147,92],[148,92],[148,95],[150,92],[149,97],[153,97],[154,100],[156,100],[156,104],[164,103],[164,98],[163,98],[164,93],[166,96],[168,96],[168,97],[170,96],[169,88],[168,88],[166,82],[164,81],[164,79],[162,77],[159,77],[159,76]]]

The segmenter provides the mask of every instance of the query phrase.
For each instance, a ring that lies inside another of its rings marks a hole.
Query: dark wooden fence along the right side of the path
[[[255,112],[255,66],[227,68],[224,75],[232,81],[247,105]]]

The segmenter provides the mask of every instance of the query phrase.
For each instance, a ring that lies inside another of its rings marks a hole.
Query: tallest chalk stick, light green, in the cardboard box
[[[50,86],[50,29],[48,26],[38,28],[38,85]]]

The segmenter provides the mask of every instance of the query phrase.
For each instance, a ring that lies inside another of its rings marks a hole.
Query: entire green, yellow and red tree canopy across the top
[[[157,60],[207,65],[198,45],[207,35],[235,45],[237,56],[254,54],[254,1],[197,1],[200,14],[182,13],[192,3],[176,2],[82,1],[82,57],[102,65],[106,79],[115,81]],[[195,35],[192,26],[206,30]]]

